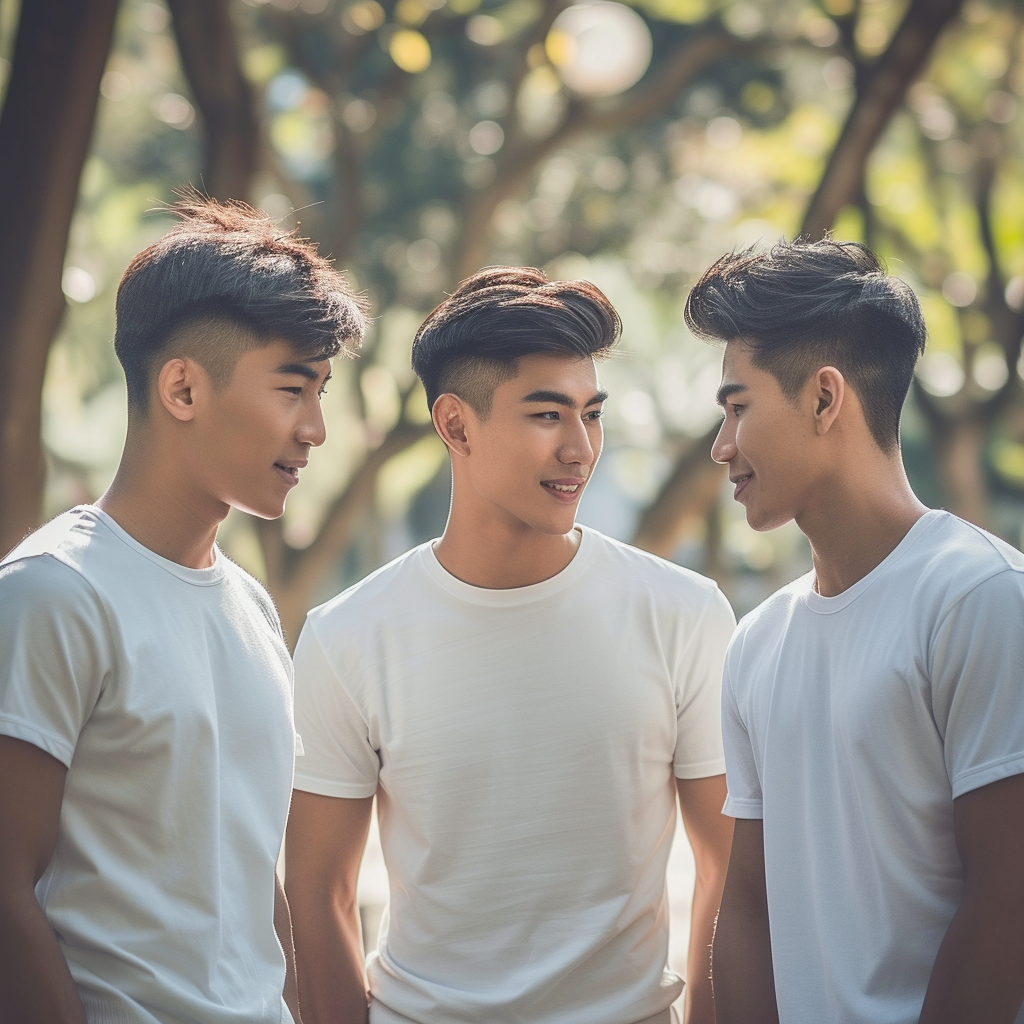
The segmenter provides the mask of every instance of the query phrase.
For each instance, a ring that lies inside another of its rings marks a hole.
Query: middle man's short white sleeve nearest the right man
[[[716,587],[676,667],[677,778],[707,778],[725,770],[722,753],[722,665],[736,626]]]

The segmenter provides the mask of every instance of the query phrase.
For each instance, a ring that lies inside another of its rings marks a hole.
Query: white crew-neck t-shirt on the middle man
[[[427,544],[309,613],[295,784],[378,795],[375,1024],[632,1024],[676,998],[673,774],[724,770],[733,624],[712,581],[590,529],[531,587],[471,587]]]

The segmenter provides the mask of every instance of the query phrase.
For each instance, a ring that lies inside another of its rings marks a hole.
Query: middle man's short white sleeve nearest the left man
[[[308,618],[295,646],[295,729],[302,749],[296,790],[348,799],[377,792],[380,759],[368,724]]]

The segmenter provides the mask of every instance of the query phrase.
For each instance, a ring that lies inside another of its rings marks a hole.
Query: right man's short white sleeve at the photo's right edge
[[[1024,772],[1024,572],[990,577],[946,612],[930,677],[953,799]]]

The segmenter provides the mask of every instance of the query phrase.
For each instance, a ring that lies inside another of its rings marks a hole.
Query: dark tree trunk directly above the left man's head
[[[259,124],[239,63],[226,0],[168,0],[181,67],[203,118],[203,190],[220,200],[248,200],[259,163]]]

